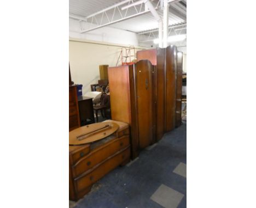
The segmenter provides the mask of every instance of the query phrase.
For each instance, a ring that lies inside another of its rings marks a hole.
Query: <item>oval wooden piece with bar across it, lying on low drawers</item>
[[[69,132],[69,145],[83,145],[108,137],[117,131],[119,126],[115,123],[96,123],[82,126]],[[79,139],[81,138],[81,139]]]

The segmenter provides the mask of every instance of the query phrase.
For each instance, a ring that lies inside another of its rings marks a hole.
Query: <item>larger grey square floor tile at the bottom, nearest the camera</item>
[[[181,202],[184,194],[162,184],[150,197],[153,201],[165,208],[176,208]]]

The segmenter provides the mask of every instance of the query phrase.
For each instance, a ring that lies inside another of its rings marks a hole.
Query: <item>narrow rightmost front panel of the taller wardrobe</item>
[[[177,76],[176,76],[176,119],[175,126],[181,125],[182,112],[182,52],[177,52]]]

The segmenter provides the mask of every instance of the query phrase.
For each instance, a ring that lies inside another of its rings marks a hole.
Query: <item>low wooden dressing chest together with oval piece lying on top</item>
[[[129,125],[114,120],[69,132],[69,200],[82,198],[97,180],[130,161],[129,137]]]

